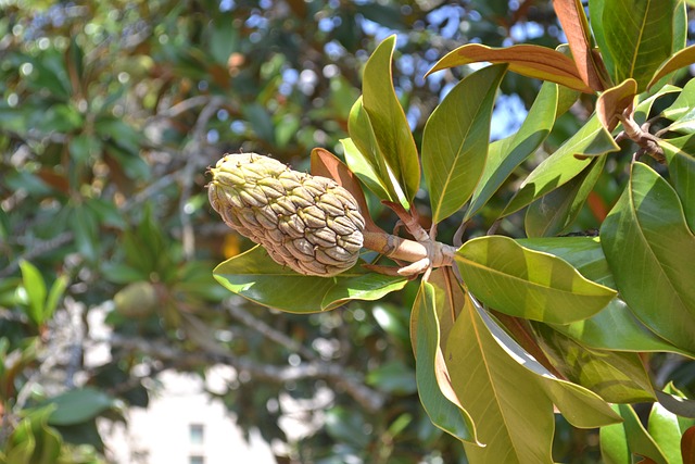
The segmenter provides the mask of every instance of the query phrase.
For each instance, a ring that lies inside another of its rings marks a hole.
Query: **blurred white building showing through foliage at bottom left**
[[[260,436],[247,442],[219,400],[200,378],[165,373],[149,407],[129,410],[128,427],[114,427],[106,447],[117,464],[275,464]]]

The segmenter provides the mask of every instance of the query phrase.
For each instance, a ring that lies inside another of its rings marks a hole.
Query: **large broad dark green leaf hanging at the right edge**
[[[637,318],[695,351],[695,237],[675,191],[650,167],[634,163],[601,237],[618,290]]]

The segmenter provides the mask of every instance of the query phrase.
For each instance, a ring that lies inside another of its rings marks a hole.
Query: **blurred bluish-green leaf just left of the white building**
[[[91,387],[67,391],[48,402],[56,406],[49,416],[48,423],[58,426],[75,425],[93,419],[114,406],[114,399],[111,396]]]

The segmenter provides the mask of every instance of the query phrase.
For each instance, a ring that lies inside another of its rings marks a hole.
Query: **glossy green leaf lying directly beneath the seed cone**
[[[213,275],[229,291],[290,313],[328,311],[351,300],[378,300],[407,283],[404,277],[370,273],[359,264],[334,277],[304,276],[277,264],[261,246],[219,264]]]

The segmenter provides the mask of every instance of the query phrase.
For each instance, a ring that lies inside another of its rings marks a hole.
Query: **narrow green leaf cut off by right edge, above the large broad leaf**
[[[695,137],[659,140],[669,165],[671,184],[678,192],[685,222],[695,231]]]

